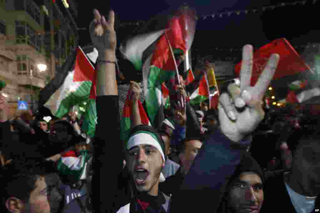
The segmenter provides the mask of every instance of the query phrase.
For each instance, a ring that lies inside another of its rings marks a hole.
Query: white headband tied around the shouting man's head
[[[165,162],[164,152],[162,151],[162,148],[161,148],[159,142],[148,133],[138,133],[138,134],[133,135],[131,138],[129,138],[129,141],[127,143],[127,149],[129,150],[132,147],[142,145],[142,144],[151,145],[151,146],[155,147],[156,149],[158,149],[161,153],[162,159]],[[164,178],[164,175],[162,174],[162,172],[160,173],[159,181],[160,182],[165,181],[165,178]]]

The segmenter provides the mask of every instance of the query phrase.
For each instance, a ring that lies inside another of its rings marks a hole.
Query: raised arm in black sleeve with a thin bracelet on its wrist
[[[118,174],[123,169],[120,142],[119,98],[116,84],[115,15],[110,11],[108,21],[94,10],[90,35],[99,52],[97,59],[97,125],[95,133],[92,202],[95,212],[113,212]],[[111,163],[112,162],[112,163]],[[112,172],[111,172],[112,171]],[[106,198],[107,201],[106,201]]]

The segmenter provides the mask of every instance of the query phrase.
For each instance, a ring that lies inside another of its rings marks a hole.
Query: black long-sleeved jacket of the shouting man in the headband
[[[148,197],[134,190],[129,173],[123,169],[119,98],[112,95],[98,96],[96,103],[98,120],[92,177],[94,212],[142,212],[138,200],[148,200]],[[159,193],[156,202],[150,202],[146,212],[164,212],[168,205],[169,197]]]

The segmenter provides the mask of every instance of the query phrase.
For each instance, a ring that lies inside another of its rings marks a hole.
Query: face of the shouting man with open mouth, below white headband
[[[127,167],[139,192],[157,195],[164,161],[160,151],[150,145],[132,147],[127,154]]]

